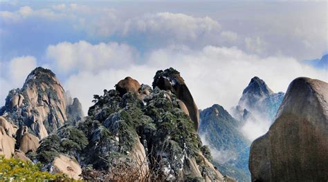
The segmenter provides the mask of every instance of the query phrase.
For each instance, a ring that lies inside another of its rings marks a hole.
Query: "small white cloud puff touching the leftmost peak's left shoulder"
[[[13,88],[23,85],[28,74],[37,66],[35,57],[16,57],[10,61],[9,79]]]

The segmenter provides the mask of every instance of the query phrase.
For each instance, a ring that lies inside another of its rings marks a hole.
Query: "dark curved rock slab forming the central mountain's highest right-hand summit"
[[[180,76],[180,72],[169,68],[167,70],[159,70],[156,72],[153,82],[153,88],[160,88],[161,90],[170,90],[178,97],[188,109],[189,117],[194,121],[194,128],[199,128],[199,110],[197,108],[192,94],[190,93],[185,81]]]

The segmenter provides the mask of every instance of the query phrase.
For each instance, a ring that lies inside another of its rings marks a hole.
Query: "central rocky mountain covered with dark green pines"
[[[173,68],[156,73],[153,89],[127,77],[93,102],[78,128],[64,126],[42,140],[35,159],[51,169],[60,154],[75,158],[86,179],[92,166],[92,174],[118,181],[224,180],[197,134],[194,100]]]

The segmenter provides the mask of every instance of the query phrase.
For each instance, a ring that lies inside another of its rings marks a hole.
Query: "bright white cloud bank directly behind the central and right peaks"
[[[219,103],[229,110],[237,105],[242,90],[254,76],[264,79],[275,92],[285,92],[296,77],[328,81],[327,72],[303,65],[293,58],[262,59],[237,48],[208,45],[201,50],[192,50],[185,45],[172,45],[153,50],[145,54],[143,61],[138,61],[134,59],[138,53],[130,51],[133,48],[117,43],[59,43],[52,46],[48,50],[55,48],[56,51],[48,52],[53,52],[51,55],[60,68],[64,68],[65,64],[69,64],[66,70],[76,68],[77,73],[71,74],[66,86],[73,95],[82,99],[84,108],[89,107],[93,94],[101,94],[104,88],[113,88],[120,79],[131,76],[140,83],[151,85],[156,70],[170,67],[181,72],[199,108]],[[107,54],[112,50],[122,54],[116,53],[118,56],[114,58],[117,59],[113,59],[111,54]],[[86,88],[80,88],[82,85]]]

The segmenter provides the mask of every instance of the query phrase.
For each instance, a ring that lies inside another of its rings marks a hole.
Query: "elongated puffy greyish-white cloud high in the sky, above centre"
[[[221,26],[210,17],[191,17],[186,14],[158,12],[145,17],[130,19],[125,23],[123,34],[135,31],[156,34],[170,41],[194,41],[208,35],[215,36]]]

